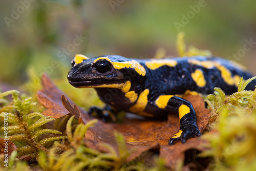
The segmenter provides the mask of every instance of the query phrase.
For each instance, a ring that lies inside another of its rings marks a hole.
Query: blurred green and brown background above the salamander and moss
[[[187,45],[234,59],[256,74],[253,0],[0,3],[1,84],[18,87],[29,81],[29,75],[40,78],[42,72],[68,83],[70,61],[77,53],[151,58],[158,48],[164,48],[168,56],[176,56],[179,31],[185,33]],[[238,58],[232,56],[238,53]],[[32,87],[37,86],[34,81]],[[32,89],[31,84],[27,88]]]

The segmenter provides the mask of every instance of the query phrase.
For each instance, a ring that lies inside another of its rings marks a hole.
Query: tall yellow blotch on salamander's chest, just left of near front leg
[[[146,108],[147,104],[147,95],[150,93],[148,89],[145,89],[140,93],[137,102],[129,109],[132,113],[144,115],[143,110]]]

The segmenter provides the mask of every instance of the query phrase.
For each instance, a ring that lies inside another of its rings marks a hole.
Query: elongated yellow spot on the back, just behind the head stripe
[[[146,67],[151,70],[156,70],[162,66],[175,67],[177,65],[177,61],[173,59],[152,59],[150,61],[146,61]]]

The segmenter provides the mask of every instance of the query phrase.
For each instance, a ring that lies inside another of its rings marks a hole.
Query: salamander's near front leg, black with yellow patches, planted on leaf
[[[180,130],[169,139],[169,145],[179,140],[184,143],[193,135],[201,136],[196,123],[196,112],[189,101],[173,95],[162,95],[156,100],[156,105],[165,111],[179,112]]]

